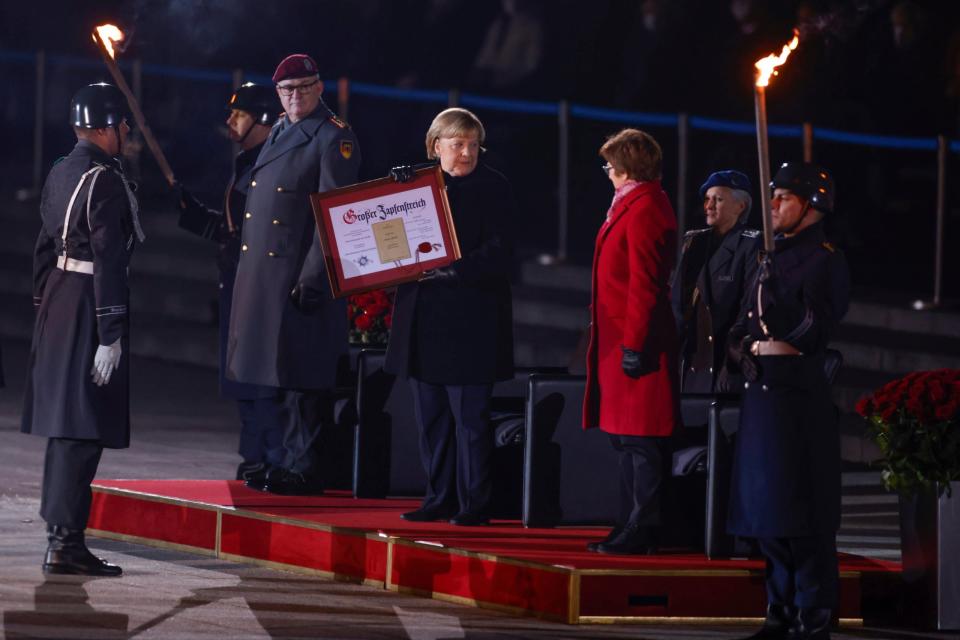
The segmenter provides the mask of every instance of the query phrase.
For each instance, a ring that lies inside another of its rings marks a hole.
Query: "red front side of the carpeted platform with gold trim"
[[[759,618],[766,602],[761,568],[636,571],[551,566],[323,525],[304,520],[309,513],[304,507],[271,513],[255,509],[94,487],[88,530],[571,624],[668,619],[715,624]],[[860,581],[859,572],[841,575],[840,618],[862,618]]]

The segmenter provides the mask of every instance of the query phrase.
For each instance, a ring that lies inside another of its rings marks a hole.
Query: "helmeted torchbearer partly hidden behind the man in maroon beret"
[[[282,404],[277,389],[228,380],[226,370],[227,331],[233,283],[240,260],[240,233],[243,228],[250,189],[250,174],[270,127],[280,113],[273,87],[248,82],[240,86],[227,103],[230,139],[240,145],[234,159],[233,176],[224,194],[223,211],[210,209],[182,185],[177,193],[180,226],[216,242],[220,251],[220,394],[237,401],[240,413],[240,448],[243,461],[237,480],[262,483],[271,467],[283,464]]]

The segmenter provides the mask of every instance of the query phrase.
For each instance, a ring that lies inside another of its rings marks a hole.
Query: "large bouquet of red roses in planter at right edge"
[[[902,494],[960,480],[960,369],[917,371],[857,403],[883,457],[883,483]]]

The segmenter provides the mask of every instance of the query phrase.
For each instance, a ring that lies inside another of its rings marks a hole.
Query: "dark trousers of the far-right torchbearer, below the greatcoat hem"
[[[801,609],[835,609],[839,597],[834,533],[798,538],[758,538],[767,561],[767,600]]]

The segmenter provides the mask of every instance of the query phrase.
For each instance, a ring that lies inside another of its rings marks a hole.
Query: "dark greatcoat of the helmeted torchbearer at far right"
[[[742,397],[728,528],[755,538],[804,537],[840,526],[840,436],[823,371],[831,333],[847,312],[849,273],[822,224],[776,240],[774,282],[752,288],[730,330],[765,339],[758,313],[799,356],[759,356],[760,378]]]

